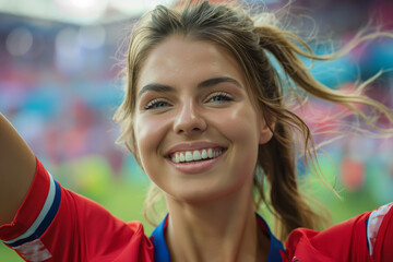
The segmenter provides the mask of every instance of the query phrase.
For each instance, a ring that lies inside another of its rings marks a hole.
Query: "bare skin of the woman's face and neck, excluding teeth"
[[[210,43],[171,36],[147,56],[136,95],[136,148],[166,194],[171,259],[264,261],[270,243],[257,227],[252,177],[258,145],[272,134],[236,60]],[[168,157],[206,147],[224,153],[191,167]]]

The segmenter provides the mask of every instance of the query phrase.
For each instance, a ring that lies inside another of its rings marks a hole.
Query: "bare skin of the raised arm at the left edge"
[[[0,225],[13,221],[35,174],[35,156],[0,112]]]

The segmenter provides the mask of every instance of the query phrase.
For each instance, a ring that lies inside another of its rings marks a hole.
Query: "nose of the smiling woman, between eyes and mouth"
[[[174,123],[174,130],[178,134],[196,134],[206,130],[206,121],[193,102],[181,105]]]

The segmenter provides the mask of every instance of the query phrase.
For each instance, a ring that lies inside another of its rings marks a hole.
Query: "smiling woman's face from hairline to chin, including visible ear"
[[[258,145],[271,133],[237,61],[222,48],[172,36],[139,75],[134,134],[147,176],[168,195],[209,201],[252,189]]]

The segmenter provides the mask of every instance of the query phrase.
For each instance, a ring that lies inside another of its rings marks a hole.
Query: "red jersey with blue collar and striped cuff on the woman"
[[[392,204],[325,231],[299,228],[283,245],[258,216],[271,239],[267,262],[392,261]],[[0,227],[0,239],[25,261],[169,262],[166,217],[144,235],[140,222],[124,223],[99,204],[62,188],[37,160],[32,187],[14,221]]]

